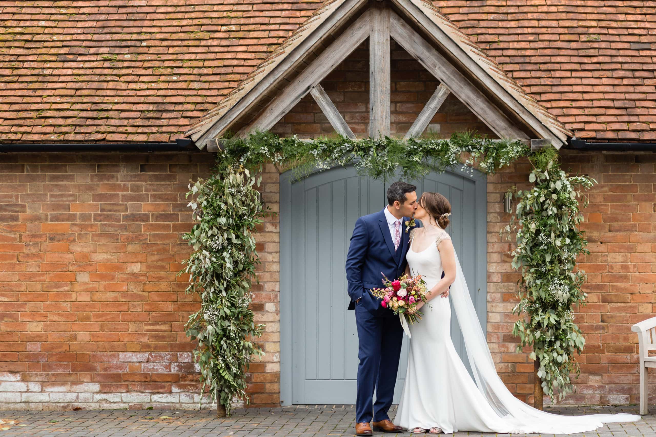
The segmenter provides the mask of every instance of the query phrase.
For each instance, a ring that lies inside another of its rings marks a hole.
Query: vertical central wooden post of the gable
[[[369,136],[390,135],[390,12],[380,1],[371,1],[369,29]]]

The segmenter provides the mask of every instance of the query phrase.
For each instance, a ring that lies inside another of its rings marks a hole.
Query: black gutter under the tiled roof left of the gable
[[[199,151],[192,140],[175,140],[174,143],[116,143],[116,144],[0,144],[0,153],[7,152],[166,152]]]

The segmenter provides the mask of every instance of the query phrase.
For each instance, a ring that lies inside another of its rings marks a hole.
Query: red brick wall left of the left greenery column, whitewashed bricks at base
[[[0,164],[0,408],[193,405],[190,178],[210,153],[9,153]],[[19,403],[20,402],[20,403]],[[47,404],[49,402],[49,404]]]

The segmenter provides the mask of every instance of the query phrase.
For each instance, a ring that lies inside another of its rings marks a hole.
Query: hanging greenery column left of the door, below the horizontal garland
[[[246,398],[245,373],[251,357],[264,352],[250,337],[259,337],[263,324],[253,322],[249,290],[255,277],[255,227],[262,223],[255,177],[237,166],[209,180],[190,184],[189,202],[197,223],[184,238],[194,247],[178,275],[190,274],[188,293],[201,297],[201,308],[185,326],[197,341],[201,401],[206,387],[217,403],[218,415],[230,414],[233,398]],[[259,185],[260,180],[257,181]]]

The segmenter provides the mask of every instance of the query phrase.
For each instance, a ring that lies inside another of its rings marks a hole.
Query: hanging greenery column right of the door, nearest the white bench
[[[558,164],[555,149],[542,149],[529,157],[534,166],[529,181],[532,189],[518,191],[516,219],[502,233],[516,232],[517,246],[511,254],[512,267],[522,273],[520,302],[513,312],[526,314],[512,330],[520,337],[520,352],[531,345],[531,359],[540,361],[538,376],[544,393],[554,401],[554,389],[562,399],[573,390],[570,373],[580,373],[573,359],[581,354],[585,339],[573,322],[572,305],[583,304],[581,290],[585,273],[575,271],[580,254],[589,254],[587,241],[578,226],[581,189],[596,181],[583,176],[567,176]],[[583,198],[584,206],[587,198]],[[510,235],[508,235],[510,238]]]

